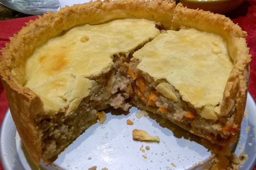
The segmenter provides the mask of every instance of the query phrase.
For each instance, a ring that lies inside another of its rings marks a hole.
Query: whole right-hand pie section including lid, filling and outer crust
[[[229,18],[177,5],[172,30],[162,31],[129,63],[132,103],[229,147],[245,109],[250,61],[245,36]]]

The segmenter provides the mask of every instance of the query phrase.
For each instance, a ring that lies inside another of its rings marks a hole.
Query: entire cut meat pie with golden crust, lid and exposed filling
[[[1,76],[35,162],[53,162],[102,109],[132,105],[227,147],[246,101],[245,36],[173,2],[90,2],[31,21],[2,50]]]

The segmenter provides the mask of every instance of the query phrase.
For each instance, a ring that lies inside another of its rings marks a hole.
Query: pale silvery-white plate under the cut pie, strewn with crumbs
[[[256,164],[256,104],[249,93],[246,109],[248,116],[244,116],[238,143],[233,148],[236,155],[248,154],[245,163],[239,165],[241,170],[251,170]],[[59,155],[53,165],[42,163],[42,167],[48,170],[87,170],[93,166],[98,170],[104,167],[109,170],[202,170],[209,166],[211,152],[199,144],[199,139],[169,121],[166,123],[160,116],[150,114],[138,119],[136,107],[132,107],[129,113],[110,112],[104,124],[92,125]],[[134,125],[127,125],[127,119],[131,119]],[[246,130],[248,126],[249,131]],[[158,135],[161,141],[134,141],[133,129]],[[142,152],[142,145],[143,149],[148,145],[150,150]],[[0,158],[5,170],[38,169],[22,145],[9,110],[0,129]],[[204,164],[200,165],[202,162]]]

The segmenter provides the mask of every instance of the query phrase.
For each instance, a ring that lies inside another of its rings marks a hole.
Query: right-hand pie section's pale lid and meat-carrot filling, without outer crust
[[[216,144],[226,145],[238,131],[235,115],[221,119],[219,111],[233,68],[221,36],[194,28],[167,30],[133,56],[136,106]]]

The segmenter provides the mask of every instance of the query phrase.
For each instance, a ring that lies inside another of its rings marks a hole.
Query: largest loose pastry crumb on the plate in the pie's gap
[[[151,136],[146,131],[140,129],[132,130],[132,138],[134,140],[144,141],[144,142],[160,142],[159,136]]]

